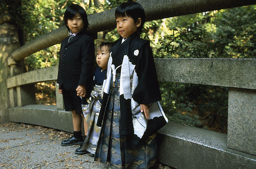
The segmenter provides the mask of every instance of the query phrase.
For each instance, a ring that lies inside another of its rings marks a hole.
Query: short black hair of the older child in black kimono
[[[115,18],[128,16],[134,22],[141,18],[141,25],[138,27],[138,33],[141,34],[143,25],[145,23],[145,12],[141,4],[133,1],[128,1],[119,5],[115,10]]]

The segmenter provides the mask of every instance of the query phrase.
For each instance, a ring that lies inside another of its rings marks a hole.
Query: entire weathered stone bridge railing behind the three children
[[[256,4],[253,0],[138,0],[147,21],[210,10]],[[115,28],[115,8],[89,16],[92,35]],[[19,48],[8,17],[0,20],[0,115],[3,122],[31,123],[72,132],[71,113],[57,105],[35,104],[34,84],[56,80],[57,66],[22,73],[26,56],[53,46],[68,33],[54,30]],[[100,20],[98,20],[100,18]],[[9,30],[9,33],[8,33]],[[10,30],[13,32],[10,33]],[[16,49],[16,50],[15,50]],[[159,81],[229,88],[228,133],[167,123],[158,131],[161,163],[177,169],[256,168],[256,59],[155,59]]]

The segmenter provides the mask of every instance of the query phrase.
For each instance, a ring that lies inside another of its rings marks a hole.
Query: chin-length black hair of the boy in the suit
[[[81,18],[82,18],[82,21],[84,23],[84,27],[83,27],[83,30],[86,31],[87,28],[89,28],[89,23],[88,23],[88,19],[87,19],[87,13],[86,11],[78,4],[72,4],[70,5],[65,13],[64,13],[64,21],[65,21],[65,26],[67,27],[67,29],[69,30],[70,32],[70,29],[69,29],[69,26],[67,25],[68,24],[68,19],[72,19],[76,13],[79,13]]]

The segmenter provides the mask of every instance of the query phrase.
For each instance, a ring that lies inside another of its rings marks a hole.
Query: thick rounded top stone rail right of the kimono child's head
[[[138,0],[147,20],[255,4],[253,0]]]

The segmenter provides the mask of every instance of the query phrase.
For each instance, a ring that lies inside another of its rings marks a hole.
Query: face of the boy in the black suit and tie
[[[84,27],[82,17],[79,13],[76,13],[72,19],[68,19],[68,26],[72,33],[81,31]]]

